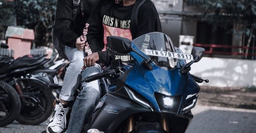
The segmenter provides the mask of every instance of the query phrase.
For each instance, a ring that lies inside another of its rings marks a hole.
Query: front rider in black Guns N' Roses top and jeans
[[[120,36],[132,40],[148,32],[161,32],[159,16],[151,0],[115,1],[116,4],[113,0],[101,0],[85,25],[85,49],[92,54],[84,58],[84,66],[87,67],[85,70],[91,66],[93,69],[91,68],[90,72],[84,71],[83,78],[100,72],[100,66],[96,62],[108,65],[109,61],[114,59],[114,55],[110,54],[106,47],[107,36]],[[80,133],[83,122],[87,122],[99,99],[100,88],[95,87],[95,84],[99,84],[99,80],[82,84],[83,88],[73,105],[66,133]]]

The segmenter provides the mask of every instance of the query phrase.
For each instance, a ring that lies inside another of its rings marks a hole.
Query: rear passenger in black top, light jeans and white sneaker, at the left
[[[76,8],[75,20],[73,20],[74,2],[79,4]],[[53,116],[46,129],[47,133],[62,133],[65,130],[66,114],[71,108],[70,101],[74,100],[77,76],[83,67],[83,58],[86,55],[83,51],[85,45],[82,36],[83,27],[97,3],[98,0],[57,0],[53,30],[60,43],[65,45],[64,51],[70,65],[64,76],[60,103],[55,105]]]

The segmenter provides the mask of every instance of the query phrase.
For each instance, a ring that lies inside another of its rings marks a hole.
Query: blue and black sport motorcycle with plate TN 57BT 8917
[[[127,69],[116,61],[112,69],[83,80],[118,77],[115,90],[94,109],[88,133],[184,133],[199,96],[196,82],[208,82],[189,73],[204,49],[194,47],[191,55],[183,54],[160,32],[132,41],[110,36],[109,43],[116,52],[130,54],[134,64]]]

